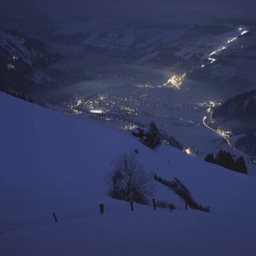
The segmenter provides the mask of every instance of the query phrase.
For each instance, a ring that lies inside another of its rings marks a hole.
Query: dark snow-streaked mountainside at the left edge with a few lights
[[[43,42],[17,31],[0,31],[0,90],[26,93],[35,91],[35,84],[52,86],[51,65],[61,58]]]

